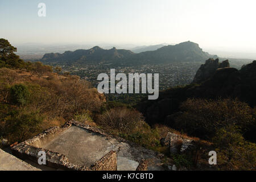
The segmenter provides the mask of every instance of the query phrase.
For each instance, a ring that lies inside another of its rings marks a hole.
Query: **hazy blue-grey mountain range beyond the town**
[[[217,58],[204,52],[199,44],[184,42],[175,46],[164,46],[155,51],[134,53],[126,49],[102,49],[95,46],[91,49],[78,49],[65,51],[64,53],[46,53],[40,60],[42,62],[76,63],[102,61],[114,64],[162,64],[180,61],[203,61],[209,58]]]

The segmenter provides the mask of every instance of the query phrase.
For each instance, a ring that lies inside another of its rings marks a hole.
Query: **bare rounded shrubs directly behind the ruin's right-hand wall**
[[[156,151],[161,147],[158,129],[152,129],[143,121],[142,114],[134,109],[113,107],[98,115],[96,123],[109,133],[143,147]]]

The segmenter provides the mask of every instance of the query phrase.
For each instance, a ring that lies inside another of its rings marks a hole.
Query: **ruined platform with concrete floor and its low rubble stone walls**
[[[50,160],[53,162],[61,160],[61,164],[64,166],[70,163],[73,166],[90,167],[102,156],[113,150],[117,152],[118,170],[133,171],[142,159],[150,160],[148,170],[163,170],[162,161],[157,158],[154,151],[115,138],[97,128],[82,125],[76,121],[66,123],[61,128],[48,129],[32,139],[18,144],[13,150],[26,153],[26,155],[37,156],[40,148],[48,150],[48,155],[51,156]],[[57,155],[51,154],[51,152],[57,152]],[[65,159],[61,155],[64,155]],[[31,165],[38,167],[34,163],[31,163]],[[40,169],[51,170],[48,168]]]

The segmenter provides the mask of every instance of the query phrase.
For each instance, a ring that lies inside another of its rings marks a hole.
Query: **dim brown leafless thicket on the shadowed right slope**
[[[211,139],[222,127],[236,125],[245,133],[254,125],[251,108],[238,100],[188,99],[183,113],[175,118],[176,129],[192,136]]]

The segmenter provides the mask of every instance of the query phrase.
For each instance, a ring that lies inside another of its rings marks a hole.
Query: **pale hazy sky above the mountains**
[[[46,4],[46,17],[38,4]],[[0,0],[0,37],[13,44],[196,42],[256,53],[255,0]]]

